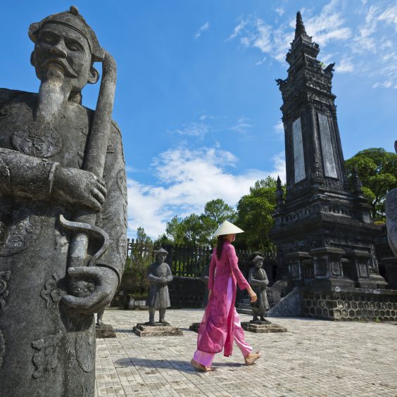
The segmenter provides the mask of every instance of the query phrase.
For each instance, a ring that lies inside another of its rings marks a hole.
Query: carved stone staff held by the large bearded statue
[[[96,177],[102,177],[105,166],[106,148],[111,131],[113,102],[117,67],[110,53],[105,52],[102,63],[102,80],[99,89],[98,102],[92,120],[91,132],[87,141],[87,150],[84,156],[83,169],[92,172]],[[68,267],[94,266],[97,259],[106,251],[108,234],[95,226],[96,213],[93,210],[82,208],[74,222],[60,216],[61,225],[77,232],[70,242],[68,253]],[[100,237],[101,248],[91,258],[88,255],[89,237]]]

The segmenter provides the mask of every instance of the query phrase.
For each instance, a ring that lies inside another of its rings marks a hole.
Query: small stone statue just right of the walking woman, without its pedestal
[[[248,283],[252,286],[253,291],[258,296],[255,303],[251,303],[253,311],[253,322],[266,321],[265,313],[269,310],[267,301],[266,286],[269,284],[265,270],[262,268],[263,258],[257,255],[253,258],[254,267],[248,272]],[[260,317],[260,320],[258,320]]]

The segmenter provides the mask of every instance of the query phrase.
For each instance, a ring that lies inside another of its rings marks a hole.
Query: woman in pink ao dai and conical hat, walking
[[[210,263],[208,305],[198,329],[197,350],[191,360],[196,370],[210,371],[215,353],[220,353],[222,349],[226,357],[232,355],[234,341],[243,353],[246,365],[260,358],[260,354],[252,353],[252,347],[246,343],[240,317],[234,307],[237,283],[240,289],[247,289],[251,302],[257,299],[239,270],[236,251],[231,244],[236,234],[242,232],[226,220],[213,234],[218,237],[218,245]]]

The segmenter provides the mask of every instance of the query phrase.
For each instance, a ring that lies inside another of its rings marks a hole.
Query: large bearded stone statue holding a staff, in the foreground
[[[127,248],[115,64],[75,7],[29,37],[39,93],[0,89],[0,396],[94,396],[94,313]]]

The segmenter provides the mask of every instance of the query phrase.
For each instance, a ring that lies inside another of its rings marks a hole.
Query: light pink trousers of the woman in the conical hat
[[[229,283],[227,284],[227,313],[229,315],[229,310],[232,306],[232,277],[229,278]],[[241,328],[240,316],[237,313],[236,308],[234,310],[234,341],[237,346],[239,346],[241,353],[243,353],[244,357],[251,353],[252,347],[249,346],[244,340],[244,329]],[[207,353],[206,351],[196,350],[193,355],[193,359],[204,365],[205,367],[210,367],[213,364],[213,359],[215,358],[215,353]]]

